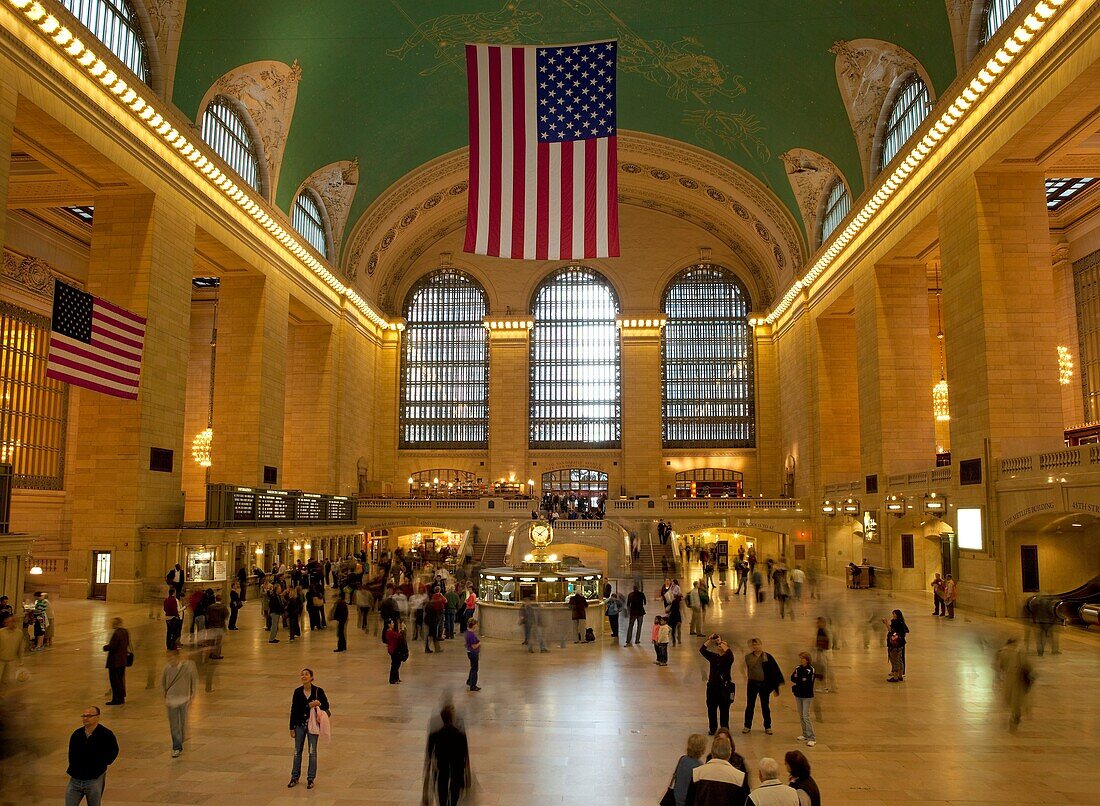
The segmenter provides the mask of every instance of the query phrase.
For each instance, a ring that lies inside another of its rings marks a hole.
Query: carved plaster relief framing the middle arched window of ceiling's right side
[[[911,73],[921,76],[930,93],[933,92],[932,82],[908,51],[889,42],[840,40],[833,43],[829,53],[836,54],[836,82],[856,136],[859,161],[864,166],[864,183],[869,185],[875,135],[890,89],[899,78]]]

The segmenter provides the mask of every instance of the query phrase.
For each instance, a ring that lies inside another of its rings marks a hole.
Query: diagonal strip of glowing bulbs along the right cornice
[[[809,272],[801,278],[795,280],[791,287],[780,299],[779,303],[771,310],[771,312],[763,319],[758,320],[758,323],[773,324],[777,319],[779,319],[783,313],[785,313],[790,307],[794,303],[794,300],[799,298],[799,295],[810,288],[822,274],[825,273],[835,262],[837,256],[844,250],[845,246],[864,229],[876,217],[876,213],[881,207],[886,205],[887,201],[901,188],[905,186],[905,183],[910,175],[933,154],[937,153],[941,142],[954,130],[960,121],[963,121],[970,108],[989,90],[997,86],[1001,80],[1001,77],[1007,67],[1009,67],[1013,62],[1015,62],[1020,54],[1023,53],[1024,47],[1028,42],[1031,42],[1037,33],[1040,33],[1058,13],[1059,11],[1068,8],[1077,0],[1041,0],[1035,4],[1032,12],[1024,18],[1024,24],[1016,27],[1004,43],[1001,45],[989,60],[979,68],[978,75],[970,81],[967,86],[963,88],[958,97],[955,98],[950,103],[946,103],[943,99],[937,104],[937,108],[944,108],[945,111],[939,115],[938,119],[934,119],[928,123],[928,131],[925,135],[910,150],[909,154],[898,164],[893,173],[889,176],[882,175],[879,178],[880,187],[871,196],[870,199],[864,205],[864,207],[856,212],[848,225],[844,228],[842,232],[838,232],[833,236],[832,243],[828,249],[825,250],[824,254],[817,258],[814,265]]]

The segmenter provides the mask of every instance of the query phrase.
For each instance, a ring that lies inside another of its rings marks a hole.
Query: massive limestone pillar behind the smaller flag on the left
[[[141,601],[140,529],[183,518],[182,463],[195,219],[151,194],[96,198],[87,290],[147,319],[136,400],[73,388],[77,420],[69,499],[73,541],[63,595],[84,598],[92,551],[111,552],[108,599]],[[172,472],[150,449],[174,451]]]

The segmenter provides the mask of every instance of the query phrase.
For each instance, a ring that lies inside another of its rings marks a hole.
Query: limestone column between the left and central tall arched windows
[[[540,467],[527,459],[530,434],[527,430],[530,396],[530,325],[532,317],[510,317],[519,327],[492,327],[488,331],[488,473],[487,482],[508,478],[535,479],[542,489]],[[493,324],[503,322],[493,321]]]

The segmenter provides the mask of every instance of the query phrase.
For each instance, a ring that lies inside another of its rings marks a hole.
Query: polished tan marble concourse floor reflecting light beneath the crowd
[[[872,615],[892,607],[905,611],[912,629],[902,685],[886,682],[882,636],[867,628]],[[9,725],[16,726],[6,741],[19,752],[0,765],[2,803],[63,801],[67,737],[85,705],[107,698],[100,648],[116,615],[133,631],[138,660],[127,704],[102,706],[102,722],[122,748],[108,773],[107,803],[411,806],[420,797],[428,720],[451,692],[470,736],[477,803],[651,805],[689,733],[707,727],[695,638],[670,651],[667,667],[653,665],[648,644],[606,640],[528,654],[514,642],[486,639],[483,691],[472,694],[463,687],[468,663],[458,641],[440,654],[414,648],[405,682],[391,686],[377,639],[351,630],[343,654],[332,652],[331,628],[268,644],[257,627],[258,606],[250,601],[241,631],[226,641],[226,659],[209,664],[212,691],[200,692],[186,750],[174,760],[161,697],[151,687],[163,664],[163,621],[139,606],[59,601],[56,610],[54,648],[26,660],[31,680],[11,686],[3,702]],[[842,640],[833,663],[839,691],[822,695],[818,743],[804,749],[824,803],[1100,803],[1100,636],[1065,631],[1062,654],[1034,659],[1031,708],[1010,733],[992,658],[1008,637],[1023,638],[1024,627],[965,611],[947,621],[930,610],[917,595],[845,590],[837,583],[823,585],[822,598],[804,601],[794,620],[780,620],[771,600],[717,601],[707,629],[728,637],[738,655],[732,711],[738,752],[754,766],[762,755],[781,760],[800,746],[789,689],[774,703],[773,736],[760,729],[759,715],[752,733],[739,732],[746,642],[761,638],[789,673],[812,643],[812,617],[827,615]],[[648,634],[648,617],[646,623]],[[330,697],[333,738],[321,744],[317,787],[288,791],[287,714],[305,665]]]

